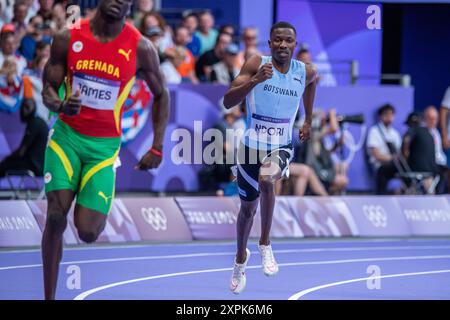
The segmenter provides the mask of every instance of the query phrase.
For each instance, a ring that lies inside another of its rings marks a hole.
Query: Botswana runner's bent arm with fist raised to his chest
[[[245,99],[252,89],[261,82],[272,78],[272,63],[266,63],[261,68],[261,56],[254,55],[248,59],[241,69],[241,72],[231,83],[230,89],[223,97],[223,105],[229,109],[237,106]],[[258,70],[259,69],[259,70]]]

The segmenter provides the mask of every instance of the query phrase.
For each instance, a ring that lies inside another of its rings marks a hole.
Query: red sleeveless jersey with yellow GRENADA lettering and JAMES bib
[[[124,103],[136,78],[136,51],[141,33],[128,22],[112,41],[99,42],[88,19],[70,30],[66,95],[80,90],[81,111],[60,114],[75,131],[94,137],[120,137]]]

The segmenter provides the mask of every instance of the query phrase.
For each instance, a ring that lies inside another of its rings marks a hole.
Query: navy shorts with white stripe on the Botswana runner
[[[263,163],[276,163],[282,176],[288,175],[289,162],[293,156],[292,145],[273,150],[256,150],[241,144],[237,156],[237,184],[239,197],[253,201],[259,197],[259,169]]]

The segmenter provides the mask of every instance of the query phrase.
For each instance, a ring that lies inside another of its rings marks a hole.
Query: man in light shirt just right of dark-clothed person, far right
[[[442,147],[441,134],[437,129],[439,122],[439,114],[435,106],[429,106],[425,109],[424,120],[425,126],[428,128],[431,135],[433,136],[434,148],[436,150],[435,160],[438,166],[438,172],[440,177],[439,184],[437,186],[437,192],[441,193],[444,186],[444,181],[446,178],[445,174],[448,170],[448,167],[447,167],[447,156]]]

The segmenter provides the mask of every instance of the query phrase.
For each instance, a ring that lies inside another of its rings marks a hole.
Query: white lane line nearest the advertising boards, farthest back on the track
[[[427,238],[417,238],[417,239],[410,239],[410,238],[379,238],[379,239],[363,239],[363,240],[355,240],[352,239],[333,239],[333,240],[325,240],[325,239],[307,239],[307,238],[299,238],[298,240],[283,240],[283,239],[275,239],[275,241],[278,244],[305,244],[305,245],[311,245],[311,244],[323,244],[323,243],[329,243],[329,244],[340,244],[340,243],[351,243],[351,244],[358,244],[358,243],[379,243],[379,242],[448,242],[450,241],[450,238],[437,238],[437,239],[427,239]],[[256,240],[253,240],[253,242],[256,243]],[[221,242],[189,242],[189,243],[147,243],[147,244],[123,244],[123,245],[105,245],[105,246],[98,246],[98,245],[84,245],[81,244],[77,247],[65,247],[64,251],[89,251],[89,250],[114,250],[114,249],[128,249],[128,248],[154,248],[154,247],[167,247],[167,246],[182,246],[182,247],[208,247],[208,246],[229,246],[229,245],[235,245],[235,241],[221,241]],[[2,251],[5,250],[5,251]],[[34,253],[34,252],[41,252],[40,248],[37,249],[19,249],[19,250],[8,250],[8,249],[2,249],[0,248],[0,255],[1,254],[7,254],[7,253]]]

